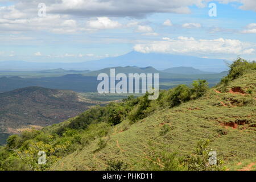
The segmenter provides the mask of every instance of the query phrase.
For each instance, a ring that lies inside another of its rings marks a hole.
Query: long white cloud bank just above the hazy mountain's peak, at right
[[[136,44],[134,50],[143,53],[184,53],[191,55],[235,54],[251,55],[255,53],[256,45],[241,42],[236,39],[205,40],[180,36],[172,41],[154,41],[145,44]]]

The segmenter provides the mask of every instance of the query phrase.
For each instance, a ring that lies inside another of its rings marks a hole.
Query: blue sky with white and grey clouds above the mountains
[[[131,51],[256,60],[255,0],[0,0],[0,61]]]

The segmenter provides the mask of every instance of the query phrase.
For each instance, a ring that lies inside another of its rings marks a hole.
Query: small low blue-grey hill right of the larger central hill
[[[193,67],[168,68],[168,69],[164,69],[163,72],[178,73],[178,74],[185,74],[185,75],[214,74],[212,72],[204,72],[204,71],[201,71],[200,69],[195,69]]]

